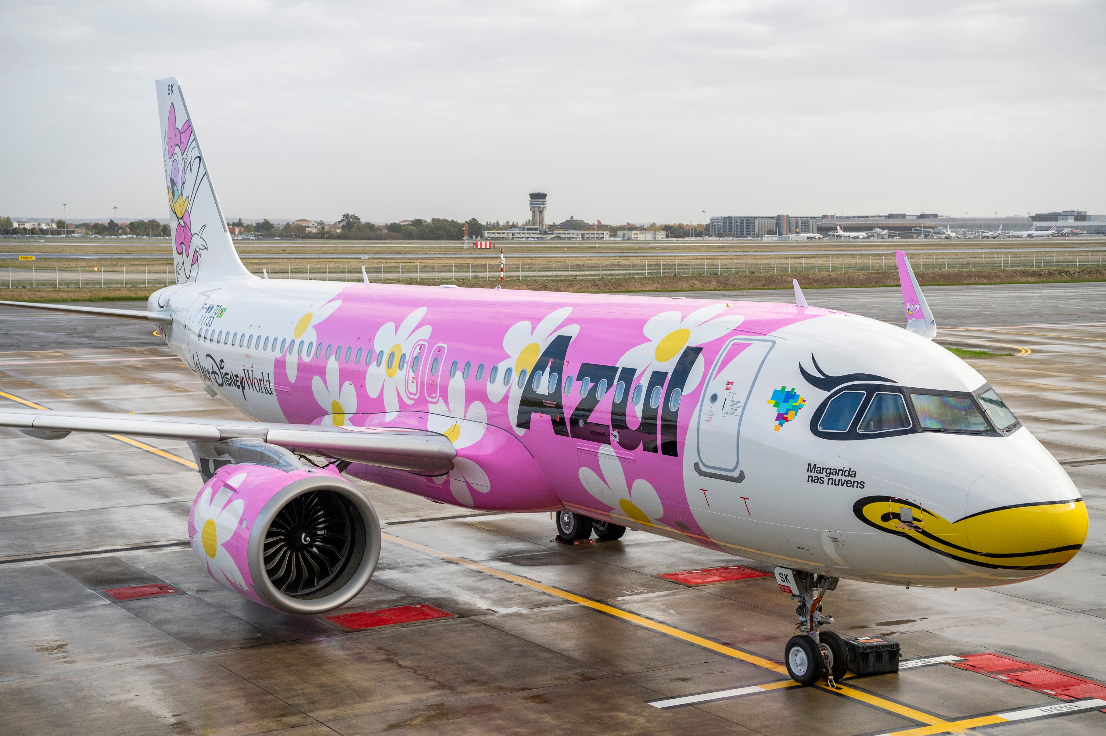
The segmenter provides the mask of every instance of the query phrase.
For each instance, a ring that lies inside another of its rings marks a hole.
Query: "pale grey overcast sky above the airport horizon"
[[[0,3],[0,216],[1106,212],[1106,3]]]

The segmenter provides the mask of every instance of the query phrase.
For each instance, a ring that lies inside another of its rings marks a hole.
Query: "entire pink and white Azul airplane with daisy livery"
[[[187,440],[188,519],[228,589],[320,613],[368,582],[380,526],[343,474],[457,506],[555,511],[562,540],[648,531],[775,566],[784,661],[839,677],[839,578],[968,588],[1071,560],[1063,468],[937,325],[898,253],[907,329],[796,302],[259,279],[227,232],[176,79],[156,83],[177,283],[145,311],[253,422],[13,411],[0,426]],[[18,302],[2,302],[12,304]]]

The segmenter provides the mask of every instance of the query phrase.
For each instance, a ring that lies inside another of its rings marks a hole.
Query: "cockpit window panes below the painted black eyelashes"
[[[848,432],[853,426],[856,412],[864,403],[866,392],[844,391],[826,405],[818,422],[822,432]],[[969,394],[930,394],[909,392],[910,403],[918,417],[920,429],[936,432],[958,432],[984,434],[991,431],[991,424],[1003,432],[1018,423],[1014,416],[994,390],[989,390],[978,397],[979,404]],[[982,411],[980,411],[982,408]],[[991,419],[991,424],[984,418]],[[898,392],[876,392],[856,424],[860,434],[879,434],[909,429],[914,425],[906,400]]]

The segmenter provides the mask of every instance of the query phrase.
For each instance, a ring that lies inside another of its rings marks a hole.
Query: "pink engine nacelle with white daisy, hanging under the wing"
[[[289,613],[349,602],[380,556],[376,511],[333,468],[226,465],[196,495],[188,538],[217,582]]]

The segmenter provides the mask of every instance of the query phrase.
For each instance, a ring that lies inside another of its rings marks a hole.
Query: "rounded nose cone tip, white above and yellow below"
[[[968,547],[988,567],[1055,569],[1086,541],[1086,505],[1060,464],[1045,455],[1003,463],[971,485],[970,504],[982,510],[961,521]]]

